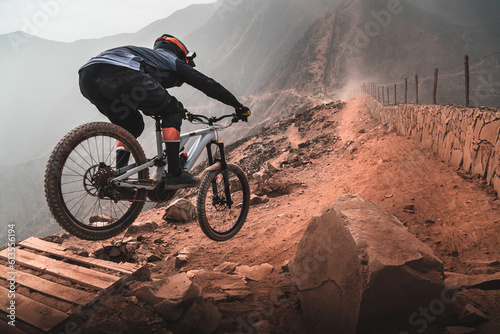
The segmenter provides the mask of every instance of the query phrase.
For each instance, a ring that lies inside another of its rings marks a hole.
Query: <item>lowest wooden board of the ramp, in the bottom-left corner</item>
[[[2,311],[6,311],[10,305],[10,301],[15,300],[16,318],[26,321],[30,325],[33,325],[43,331],[50,331],[68,317],[66,313],[29,299],[28,297],[18,293],[16,293],[14,299],[9,299],[6,297],[8,293],[9,290],[0,287],[0,296],[2,296],[2,298],[0,298],[0,305]]]

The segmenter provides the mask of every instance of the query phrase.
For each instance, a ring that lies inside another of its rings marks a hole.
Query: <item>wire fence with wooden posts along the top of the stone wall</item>
[[[365,82],[353,94],[372,95],[384,105],[400,103],[500,107],[500,52],[416,73],[403,80]]]

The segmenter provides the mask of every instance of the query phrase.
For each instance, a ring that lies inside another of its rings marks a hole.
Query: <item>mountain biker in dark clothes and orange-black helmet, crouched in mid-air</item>
[[[247,121],[250,110],[215,80],[195,70],[196,53],[189,52],[177,38],[164,34],[153,49],[122,46],[100,53],[78,71],[80,91],[99,111],[135,138],[144,130],[139,110],[160,116],[168,158],[167,189],[194,187],[200,179],[179,166],[180,128],[185,114],[182,103],[165,89],[183,83],[232,106]],[[130,152],[119,141],[116,167],[127,165]]]

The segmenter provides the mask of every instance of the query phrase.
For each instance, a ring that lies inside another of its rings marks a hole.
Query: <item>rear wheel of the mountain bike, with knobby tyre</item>
[[[45,196],[56,221],[69,233],[88,240],[111,238],[125,230],[141,212],[143,189],[119,188],[116,141],[130,151],[130,164],[146,162],[139,142],[110,123],[89,123],[69,132],[57,144],[45,170]],[[148,179],[148,170],[138,174]]]

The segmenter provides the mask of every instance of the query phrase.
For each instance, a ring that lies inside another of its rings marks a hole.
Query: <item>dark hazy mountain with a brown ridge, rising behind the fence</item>
[[[433,71],[440,68],[439,85],[444,91],[440,102],[461,103],[465,54],[472,59],[471,73],[475,70],[477,73],[472,81],[475,87],[481,87],[477,81],[483,71],[496,69],[498,78],[499,58],[480,58],[491,54],[499,45],[500,27],[496,21],[483,22],[479,18],[493,16],[487,13],[499,8],[499,4],[494,1],[482,3],[485,8],[480,13],[472,11],[475,19],[469,17],[468,23],[458,25],[455,19],[442,18],[444,10],[433,13],[431,7],[422,8],[421,4],[416,6],[412,1],[401,1],[392,9],[387,7],[387,1],[381,0],[348,2],[311,25],[259,88],[259,93],[287,92],[286,97],[275,97],[283,101],[290,95],[319,93],[335,99],[362,82],[391,85],[391,89],[398,83],[401,89],[405,77],[412,79],[418,73],[421,77],[420,101],[430,102]],[[455,11],[448,7],[447,13],[454,18],[461,17],[459,14],[466,16],[471,6],[480,7],[471,1],[454,1],[453,4],[462,5]],[[401,101],[402,97],[398,98]],[[498,96],[480,102],[500,105]]]

